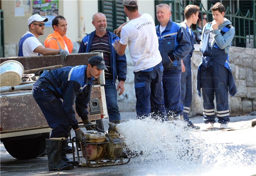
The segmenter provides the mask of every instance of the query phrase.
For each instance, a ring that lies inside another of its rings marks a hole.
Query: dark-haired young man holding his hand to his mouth
[[[235,28],[224,18],[225,7],[221,3],[212,6],[213,21],[204,26],[200,42],[201,63],[197,72],[197,91],[204,100],[204,123],[212,129],[215,123],[214,93],[220,129],[228,128],[228,92],[234,96],[236,85],[228,64],[228,49],[235,35]]]

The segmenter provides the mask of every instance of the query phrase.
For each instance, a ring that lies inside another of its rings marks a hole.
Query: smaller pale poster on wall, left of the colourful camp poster
[[[15,17],[29,16],[30,15],[30,1],[28,0],[15,0],[14,14]]]

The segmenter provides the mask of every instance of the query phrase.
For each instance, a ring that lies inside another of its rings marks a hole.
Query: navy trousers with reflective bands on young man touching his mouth
[[[228,123],[228,70],[212,61],[212,66],[201,68],[201,84],[204,100],[204,123],[215,123],[214,93],[217,104],[217,118],[219,123]]]

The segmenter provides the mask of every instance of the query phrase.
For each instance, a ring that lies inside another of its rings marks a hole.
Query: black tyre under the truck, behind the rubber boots
[[[32,159],[40,156],[45,150],[45,139],[50,133],[22,136],[21,139],[4,140],[4,147],[12,157],[17,159]]]

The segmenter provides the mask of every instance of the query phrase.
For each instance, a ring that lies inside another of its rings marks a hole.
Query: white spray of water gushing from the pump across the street
[[[134,165],[134,172],[128,175],[244,176],[256,173],[255,149],[248,153],[241,146],[212,143],[207,132],[185,127],[182,121],[157,122],[149,118],[117,125],[129,149],[143,151],[143,155],[129,163]]]

